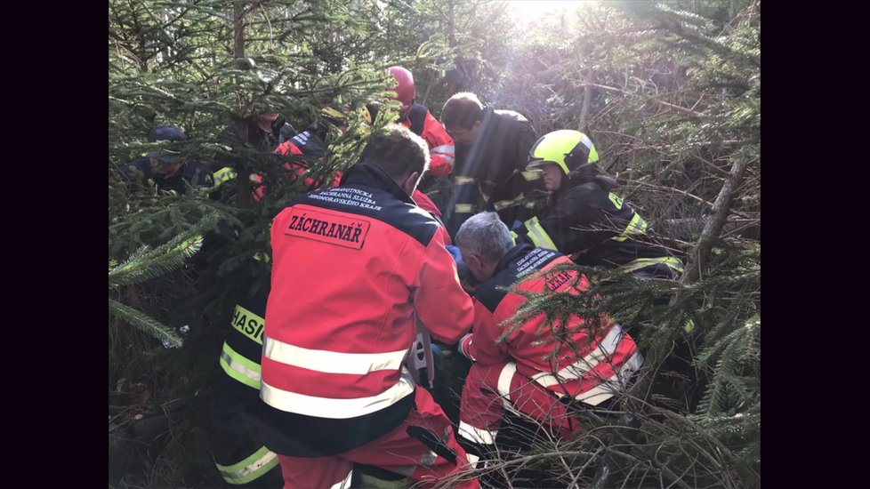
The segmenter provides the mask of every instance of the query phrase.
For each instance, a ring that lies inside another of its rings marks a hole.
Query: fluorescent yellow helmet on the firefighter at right
[[[567,175],[582,164],[598,161],[595,145],[583,132],[562,129],[545,134],[528,152],[528,169],[542,164],[558,164]]]

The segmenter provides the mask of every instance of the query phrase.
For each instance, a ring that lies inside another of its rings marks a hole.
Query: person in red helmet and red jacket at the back
[[[399,108],[399,124],[423,138],[429,145],[429,174],[433,177],[449,175],[453,172],[456,152],[453,138],[447,134],[438,119],[431,115],[429,108],[414,101],[417,91],[411,72],[400,66],[387,68],[387,72],[396,80],[396,86],[392,88],[396,92],[393,100],[399,100],[402,104]]]

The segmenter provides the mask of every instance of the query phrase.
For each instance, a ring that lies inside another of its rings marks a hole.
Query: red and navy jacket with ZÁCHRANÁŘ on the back
[[[473,318],[439,228],[370,164],[278,213],[261,397],[286,429],[267,446],[299,453],[293,440],[302,437],[320,453],[340,453],[405,419],[415,383],[402,364],[414,314],[446,343]],[[341,439],[318,440],[326,431]]]

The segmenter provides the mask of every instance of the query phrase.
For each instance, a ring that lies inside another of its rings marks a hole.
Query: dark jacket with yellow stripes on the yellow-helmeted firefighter
[[[565,177],[538,217],[543,229],[560,253],[572,256],[579,265],[616,269],[639,258],[673,256],[645,231],[646,223],[632,206],[610,190],[616,180],[602,174],[597,164],[586,164]],[[633,221],[632,230],[626,228]],[[517,243],[536,243],[535,234],[526,226],[514,229]],[[616,238],[616,239],[614,239]],[[624,238],[624,239],[623,239]]]

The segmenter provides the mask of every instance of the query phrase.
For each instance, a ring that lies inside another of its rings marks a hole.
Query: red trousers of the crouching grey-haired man
[[[539,421],[557,437],[582,429],[552,392],[516,372],[516,364],[471,365],[459,407],[459,436],[477,445],[493,445],[509,409]]]

